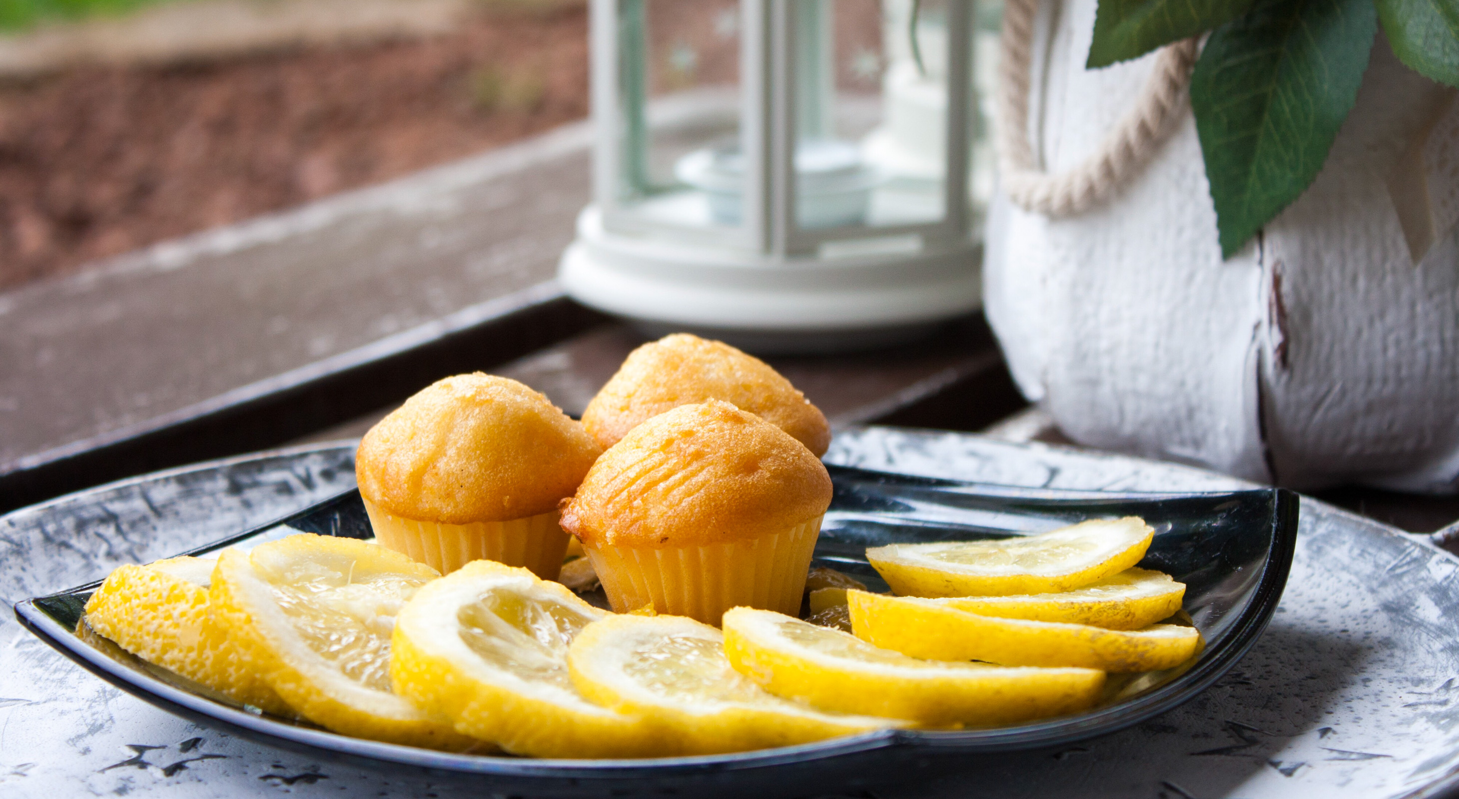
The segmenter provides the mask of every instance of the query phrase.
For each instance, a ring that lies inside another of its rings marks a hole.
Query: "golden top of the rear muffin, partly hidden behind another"
[[[582,426],[608,448],[678,405],[722,400],[789,433],[817,458],[830,446],[820,408],[763,360],[722,341],[676,332],[629,353],[582,411]]]

